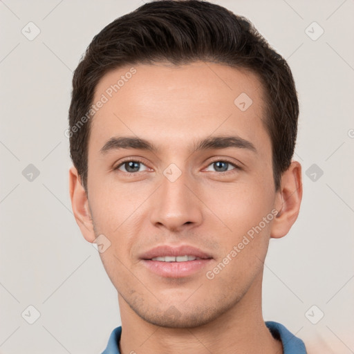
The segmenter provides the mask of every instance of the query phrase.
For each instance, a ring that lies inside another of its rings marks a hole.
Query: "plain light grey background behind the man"
[[[270,242],[264,317],[335,353],[354,353],[354,1],[214,2],[255,24],[288,59],[299,92],[295,159],[304,199],[290,233]],[[64,131],[72,72],[86,46],[140,5],[0,1],[2,354],[97,354],[120,325],[115,288],[71,211]],[[32,41],[21,33],[34,33],[30,21],[41,31]],[[309,37],[321,31],[314,21],[324,30],[317,40]],[[39,170],[32,181],[22,174],[30,164]],[[40,313],[34,324],[30,305]]]

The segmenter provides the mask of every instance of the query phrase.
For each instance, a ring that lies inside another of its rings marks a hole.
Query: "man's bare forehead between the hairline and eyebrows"
[[[97,84],[89,151],[114,135],[139,136],[174,149],[189,138],[234,133],[268,139],[257,75],[230,66],[140,64],[110,71]],[[158,141],[157,141],[158,140]]]

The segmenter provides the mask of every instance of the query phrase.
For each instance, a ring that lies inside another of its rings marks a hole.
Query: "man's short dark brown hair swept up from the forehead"
[[[297,137],[299,102],[290,68],[248,19],[199,0],[145,3],[103,28],[86,49],[73,75],[68,117],[71,159],[85,189],[91,127],[87,112],[100,79],[128,64],[180,65],[198,60],[244,68],[259,77],[265,92],[265,128],[272,142],[274,185],[279,189]]]

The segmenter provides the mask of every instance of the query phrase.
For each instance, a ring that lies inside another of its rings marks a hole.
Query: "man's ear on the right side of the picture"
[[[281,187],[275,202],[278,214],[273,220],[270,237],[280,239],[288,234],[299,215],[301,199],[301,165],[297,161],[292,161],[290,167],[281,176]]]

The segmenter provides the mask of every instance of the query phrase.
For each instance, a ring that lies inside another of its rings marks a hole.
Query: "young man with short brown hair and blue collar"
[[[264,322],[270,238],[297,219],[286,61],[206,1],[154,1],[93,38],[73,77],[70,194],[118,291],[104,354],[306,353]]]

